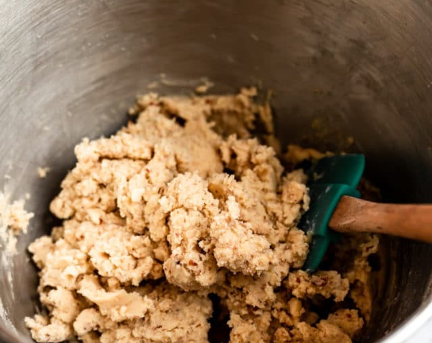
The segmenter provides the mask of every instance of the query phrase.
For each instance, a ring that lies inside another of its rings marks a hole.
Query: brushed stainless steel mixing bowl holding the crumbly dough
[[[160,73],[178,86],[164,93],[201,77],[216,92],[272,88],[283,142],[337,148],[353,136],[384,200],[432,202],[431,43],[431,0],[0,0],[0,183],[30,193],[35,212],[19,253],[0,252],[0,340],[29,341],[37,279],[25,249],[53,225],[73,146],[120,127]],[[405,341],[432,317],[432,247],[384,245],[365,342]]]

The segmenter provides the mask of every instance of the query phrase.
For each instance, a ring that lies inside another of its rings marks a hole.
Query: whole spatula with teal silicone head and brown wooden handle
[[[362,154],[324,157],[306,172],[309,210],[299,227],[311,234],[303,269],[314,271],[340,233],[383,233],[432,243],[432,205],[381,204],[359,199],[365,168]]]

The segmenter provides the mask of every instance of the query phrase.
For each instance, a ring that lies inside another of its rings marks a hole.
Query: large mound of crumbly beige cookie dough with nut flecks
[[[36,341],[204,343],[213,306],[229,313],[231,343],[356,337],[378,240],[346,238],[344,266],[300,270],[307,178],[283,168],[270,106],[256,95],[146,94],[136,123],[76,146],[50,206],[63,223],[29,246],[43,311],[25,323]],[[337,305],[325,318],[323,299]]]

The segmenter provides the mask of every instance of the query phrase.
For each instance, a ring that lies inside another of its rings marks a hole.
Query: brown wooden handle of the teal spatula
[[[338,232],[374,232],[432,243],[432,205],[380,204],[344,195],[329,227]]]

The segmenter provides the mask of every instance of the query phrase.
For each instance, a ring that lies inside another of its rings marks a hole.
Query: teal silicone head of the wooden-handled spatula
[[[343,195],[360,197],[357,185],[364,169],[364,155],[346,154],[324,157],[306,170],[311,202],[299,223],[312,236],[306,271],[317,269],[330,243],[338,241],[340,234],[330,230],[328,222]]]

